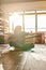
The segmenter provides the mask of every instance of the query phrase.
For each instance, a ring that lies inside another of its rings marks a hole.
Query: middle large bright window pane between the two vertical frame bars
[[[25,15],[25,31],[35,31],[35,15]]]

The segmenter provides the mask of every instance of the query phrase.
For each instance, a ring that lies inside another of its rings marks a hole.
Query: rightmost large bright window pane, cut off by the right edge
[[[37,15],[37,31],[46,31],[46,15]]]

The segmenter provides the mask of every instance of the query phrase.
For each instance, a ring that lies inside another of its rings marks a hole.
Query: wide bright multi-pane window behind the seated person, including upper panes
[[[35,15],[37,18],[35,18]],[[46,31],[46,11],[14,12],[9,19],[11,32],[16,26],[21,26],[26,32],[35,32],[35,29],[37,29],[37,31]],[[37,25],[36,28],[35,25]]]

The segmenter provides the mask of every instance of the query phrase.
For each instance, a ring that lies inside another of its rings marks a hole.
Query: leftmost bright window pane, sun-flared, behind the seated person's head
[[[13,31],[13,29],[15,29],[16,26],[21,26],[22,28],[22,16],[18,15],[18,14],[12,14],[12,16],[10,16],[10,32]]]

